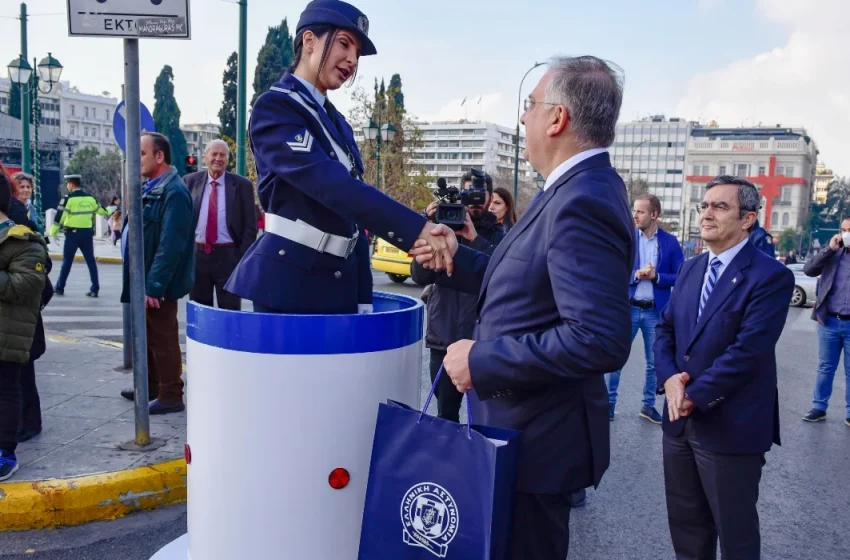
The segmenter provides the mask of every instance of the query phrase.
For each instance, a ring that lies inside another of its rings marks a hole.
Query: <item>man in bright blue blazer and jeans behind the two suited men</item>
[[[638,331],[643,335],[646,374],[643,386],[643,403],[640,417],[653,424],[661,424],[661,415],[655,409],[655,327],[658,316],[670,299],[670,290],[676,283],[676,274],[685,256],[679,241],[660,227],[661,201],[654,194],[642,194],[634,202],[635,263],[629,282],[629,303],[632,312],[632,341]],[[621,371],[608,374],[608,417],[614,420],[617,406],[617,389]]]

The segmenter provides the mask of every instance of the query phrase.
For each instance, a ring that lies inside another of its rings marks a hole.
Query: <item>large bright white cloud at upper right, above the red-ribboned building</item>
[[[759,0],[758,12],[787,27],[785,45],[697,74],[678,113],[729,125],[805,126],[820,159],[836,172],[850,174],[846,0]]]

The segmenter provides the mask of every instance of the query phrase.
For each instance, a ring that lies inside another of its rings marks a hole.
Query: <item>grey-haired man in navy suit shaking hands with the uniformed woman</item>
[[[546,185],[492,257],[457,247],[437,284],[479,294],[475,342],[448,347],[445,370],[475,421],[522,431],[512,558],[563,560],[573,492],[609,463],[606,372],[631,342],[627,286],[634,226],[605,148],[622,79],[590,56],[557,58],[525,103],[525,157]],[[419,262],[434,263],[418,242]]]

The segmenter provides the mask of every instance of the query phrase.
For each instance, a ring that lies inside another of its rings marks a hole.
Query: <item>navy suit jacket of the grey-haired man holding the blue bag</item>
[[[631,347],[634,222],[607,153],[567,171],[492,257],[459,247],[437,284],[479,294],[473,421],[521,430],[517,491],[596,485],[610,458],[604,375]]]

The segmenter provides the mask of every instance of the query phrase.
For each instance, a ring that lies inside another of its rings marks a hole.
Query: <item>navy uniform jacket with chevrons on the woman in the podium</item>
[[[343,237],[359,228],[361,235],[342,258],[267,233],[248,249],[225,289],[286,313],[355,313],[358,303],[371,303],[363,229],[409,251],[425,218],[361,180],[363,162],[351,127],[332,107],[320,107],[289,73],[257,99],[250,133],[257,190],[268,214]],[[331,138],[346,152],[351,170]]]

